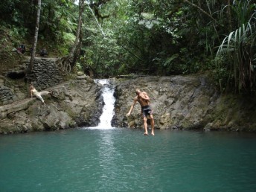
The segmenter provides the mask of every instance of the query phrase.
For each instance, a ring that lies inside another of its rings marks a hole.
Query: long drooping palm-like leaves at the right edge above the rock
[[[255,15],[246,24],[225,36],[218,48],[217,57],[227,59],[226,68],[233,77],[235,89],[250,89],[256,86],[255,78]]]

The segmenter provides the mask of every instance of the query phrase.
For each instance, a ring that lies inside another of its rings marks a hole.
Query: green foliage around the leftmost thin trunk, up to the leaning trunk
[[[37,1],[2,0],[0,4],[1,31],[8,33],[7,49],[25,44],[33,45]],[[42,0],[39,25],[39,49],[48,48],[54,55],[68,54],[75,38],[78,10],[73,1]],[[1,38],[6,38],[6,36]]]

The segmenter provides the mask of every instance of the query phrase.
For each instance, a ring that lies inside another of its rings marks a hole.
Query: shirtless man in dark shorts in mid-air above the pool
[[[138,102],[141,105],[141,116],[143,118],[143,124],[144,124],[144,135],[148,135],[147,132],[147,116],[150,116],[150,124],[151,124],[151,135],[155,135],[154,132],[154,118],[153,118],[153,109],[150,108],[150,97],[147,95],[146,92],[141,92],[139,89],[135,90],[136,97],[134,97],[133,103],[131,108],[129,109],[129,112],[127,113],[127,116],[129,116],[132,112],[132,109],[134,108],[135,104]]]

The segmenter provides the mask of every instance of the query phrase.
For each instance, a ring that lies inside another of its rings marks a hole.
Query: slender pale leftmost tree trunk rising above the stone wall
[[[37,38],[38,38],[38,31],[39,31],[39,22],[40,22],[40,12],[41,12],[41,0],[38,0],[38,5],[37,5],[37,16],[36,16],[36,29],[35,29],[35,36],[33,38],[33,48],[31,52],[31,62],[29,63],[28,66],[28,74],[31,74],[33,70],[33,62],[35,60],[36,56],[36,44],[37,44]]]

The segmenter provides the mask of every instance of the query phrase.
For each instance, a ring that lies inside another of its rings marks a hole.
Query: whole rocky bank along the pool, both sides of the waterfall
[[[204,129],[256,132],[254,97],[221,95],[207,74],[111,79],[115,86],[112,127],[142,129],[140,106],[126,114],[135,89],[148,93],[156,129]],[[0,133],[94,127],[103,109],[100,84],[85,75],[52,86],[43,106],[36,98],[0,106]],[[42,90],[39,90],[42,91]]]

